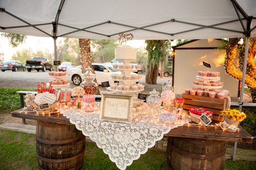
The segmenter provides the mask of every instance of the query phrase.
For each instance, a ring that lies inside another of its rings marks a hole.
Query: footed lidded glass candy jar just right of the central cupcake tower
[[[153,91],[150,92],[150,96],[147,97],[146,102],[151,108],[151,117],[156,118],[155,113],[157,113],[157,109],[161,106],[162,103],[159,92],[157,92],[156,89],[153,89]]]

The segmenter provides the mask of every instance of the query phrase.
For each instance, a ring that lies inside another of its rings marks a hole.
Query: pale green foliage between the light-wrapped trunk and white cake
[[[92,47],[95,52],[92,53],[92,59],[95,62],[110,62],[114,58],[114,49],[118,46],[117,40],[113,39],[93,39]]]

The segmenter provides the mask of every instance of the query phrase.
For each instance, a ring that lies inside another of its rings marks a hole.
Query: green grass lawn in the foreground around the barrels
[[[0,130],[0,169],[38,169],[34,134]],[[118,169],[95,143],[86,142],[83,169]],[[103,168],[104,167],[104,168]],[[225,161],[225,169],[255,169],[256,161]],[[126,169],[166,169],[166,153],[148,151]]]

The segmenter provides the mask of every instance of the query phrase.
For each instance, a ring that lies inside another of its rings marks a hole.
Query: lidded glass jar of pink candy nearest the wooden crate
[[[164,110],[172,112],[174,108],[175,94],[172,89],[171,82],[168,81],[164,87],[164,91],[161,93],[161,101],[163,101]]]

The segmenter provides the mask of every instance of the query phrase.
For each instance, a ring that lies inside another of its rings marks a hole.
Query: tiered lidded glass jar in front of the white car
[[[82,74],[83,82],[80,84],[81,87],[83,87],[86,94],[95,94],[97,90],[98,84],[94,82],[95,80],[95,74],[92,73],[92,69],[90,66],[88,66],[85,70],[85,73]]]

